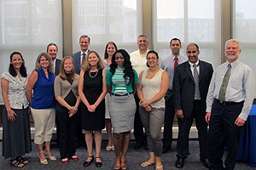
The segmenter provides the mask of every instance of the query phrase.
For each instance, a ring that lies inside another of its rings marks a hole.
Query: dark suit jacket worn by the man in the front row
[[[199,60],[199,90],[202,110],[206,111],[208,88],[212,79],[212,65]],[[177,65],[173,78],[173,96],[176,110],[183,110],[183,116],[190,117],[193,112],[195,97],[195,82],[189,61]]]

